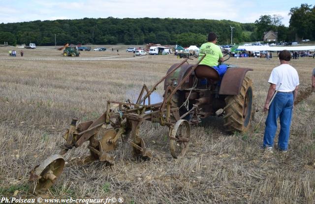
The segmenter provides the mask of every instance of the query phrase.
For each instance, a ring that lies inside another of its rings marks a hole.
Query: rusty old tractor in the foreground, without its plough
[[[229,58],[229,54],[225,53],[224,61],[228,59],[226,56]],[[178,65],[172,65],[167,73]],[[246,132],[254,108],[252,80],[245,75],[252,69],[228,65],[221,83],[215,69],[210,69],[210,73],[206,69],[210,67],[181,64],[164,81],[164,100],[171,98],[172,106],[179,108],[180,118],[190,124],[208,116],[223,116],[227,132]]]

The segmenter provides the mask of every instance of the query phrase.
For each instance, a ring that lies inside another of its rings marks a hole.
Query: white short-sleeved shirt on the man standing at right
[[[281,64],[275,67],[268,82],[277,85],[276,90],[282,92],[293,91],[300,84],[297,71],[289,64]],[[281,87],[279,88],[280,84]]]

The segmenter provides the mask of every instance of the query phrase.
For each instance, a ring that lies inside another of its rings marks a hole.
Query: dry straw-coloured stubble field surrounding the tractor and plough
[[[68,60],[72,58],[62,57],[61,51],[40,47],[24,50],[23,58],[9,58],[7,48],[0,47],[0,163],[5,164],[0,165],[1,195],[9,197],[19,190],[17,196],[33,197],[25,190],[29,172],[58,153],[71,117],[95,119],[105,111],[107,100],[136,99],[143,84],[152,87],[172,64],[181,61],[172,55],[135,59],[125,47],[120,46],[119,56],[107,46],[106,52],[82,51],[79,57],[111,60]],[[230,58],[228,62],[254,69],[248,75],[261,110],[268,77],[279,65],[278,59]],[[291,64],[299,73],[300,89],[310,87],[315,60],[300,58]],[[163,86],[158,93],[163,94]],[[263,122],[254,133],[228,134],[221,118],[214,117],[192,127],[189,150],[185,158],[176,160],[165,139],[168,129],[145,122],[140,135],[154,150],[152,160],[134,160],[131,147],[119,140],[113,150],[114,166],[80,165],[76,161],[89,154],[85,144],[65,154],[63,174],[45,196],[121,197],[127,204],[313,204],[314,110],[314,93],[296,105],[285,155],[260,150]],[[255,114],[253,127],[262,115]]]

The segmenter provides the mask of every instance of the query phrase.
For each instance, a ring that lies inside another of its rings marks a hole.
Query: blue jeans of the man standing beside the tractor
[[[290,135],[291,117],[293,108],[293,93],[278,92],[272,101],[266,119],[263,146],[273,146],[277,131],[277,119],[280,117],[280,133],[278,147],[287,150]]]

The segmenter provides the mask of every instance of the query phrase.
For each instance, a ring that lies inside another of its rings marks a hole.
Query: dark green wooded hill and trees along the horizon
[[[75,20],[32,21],[0,24],[0,44],[29,44],[52,46],[56,44],[118,44],[200,46],[210,31],[216,32],[219,44],[261,41],[270,29],[278,32],[278,41],[300,37],[314,39],[315,7],[301,4],[290,10],[290,26],[282,24],[281,16],[260,16],[255,23],[229,20],[175,19],[175,18],[84,18]],[[305,31],[306,30],[306,31]]]

